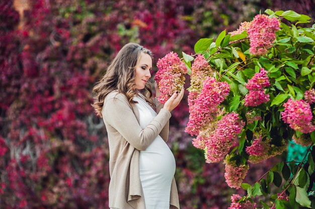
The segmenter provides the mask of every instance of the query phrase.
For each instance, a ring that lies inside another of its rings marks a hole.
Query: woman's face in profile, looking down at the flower
[[[135,88],[143,89],[145,83],[151,77],[150,70],[152,69],[152,59],[150,55],[141,52],[138,63],[135,67]]]

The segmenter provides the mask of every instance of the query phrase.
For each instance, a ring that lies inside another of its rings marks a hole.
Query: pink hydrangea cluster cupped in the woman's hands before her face
[[[159,70],[155,74],[155,81],[159,85],[161,95],[157,97],[161,103],[165,103],[175,91],[181,91],[185,83],[187,68],[181,62],[177,53],[170,52],[156,63]]]

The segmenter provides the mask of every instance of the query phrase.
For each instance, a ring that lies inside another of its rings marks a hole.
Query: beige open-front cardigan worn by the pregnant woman
[[[157,103],[158,114],[145,129],[139,125],[139,111],[121,93],[109,93],[102,110],[109,141],[109,207],[145,209],[139,174],[139,150],[145,150],[160,134],[168,140],[171,113]],[[178,192],[173,177],[170,208],[179,208]]]

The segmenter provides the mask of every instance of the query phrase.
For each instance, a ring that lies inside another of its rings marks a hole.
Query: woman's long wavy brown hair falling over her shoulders
[[[152,52],[143,48],[139,44],[128,43],[121,48],[117,56],[106,70],[105,75],[99,80],[93,90],[94,103],[92,104],[97,116],[103,118],[102,109],[105,97],[112,91],[117,90],[119,93],[124,94],[132,106],[136,101],[132,100],[138,94],[135,89],[135,67],[139,61],[141,53],[150,55],[153,59]],[[151,107],[155,107],[151,97],[152,89],[150,83],[146,83],[143,90],[140,91],[146,102]]]

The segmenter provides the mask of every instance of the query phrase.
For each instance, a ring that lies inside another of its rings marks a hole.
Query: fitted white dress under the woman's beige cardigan
[[[140,96],[138,101],[139,124],[144,129],[156,116],[155,111]],[[169,209],[171,184],[175,174],[175,158],[165,141],[158,135],[139,155],[140,180],[145,209]]]

